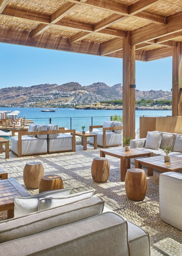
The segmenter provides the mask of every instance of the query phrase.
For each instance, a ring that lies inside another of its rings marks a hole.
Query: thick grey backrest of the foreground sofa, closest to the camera
[[[127,222],[115,213],[101,213],[1,243],[0,251],[3,256],[129,256]]]

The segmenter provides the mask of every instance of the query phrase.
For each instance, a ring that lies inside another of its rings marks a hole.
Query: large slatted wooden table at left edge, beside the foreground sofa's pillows
[[[13,218],[14,198],[27,195],[30,195],[30,193],[14,178],[0,180],[0,211],[7,210],[7,218]]]

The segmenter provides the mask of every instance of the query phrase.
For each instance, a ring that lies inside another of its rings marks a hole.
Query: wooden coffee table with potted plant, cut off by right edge
[[[147,166],[147,174],[149,176],[152,176],[154,174],[154,168],[162,172],[182,171],[182,159],[176,156],[171,156],[170,162],[165,162],[164,156],[153,156],[150,158],[142,158],[135,160],[135,168],[141,169],[142,165]]]

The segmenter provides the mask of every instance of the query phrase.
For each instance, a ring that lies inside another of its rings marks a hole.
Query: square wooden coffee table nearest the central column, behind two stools
[[[140,156],[151,157],[153,156],[153,152],[140,150],[137,148],[130,148],[129,151],[125,151],[124,147],[100,150],[100,156],[105,157],[105,155],[114,156],[121,159],[121,181],[125,181],[127,168],[130,168],[130,159]]]

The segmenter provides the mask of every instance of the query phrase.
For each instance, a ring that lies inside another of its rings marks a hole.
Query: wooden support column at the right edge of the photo
[[[179,83],[178,83],[179,82]],[[182,55],[180,42],[172,49],[172,116],[182,116]]]

